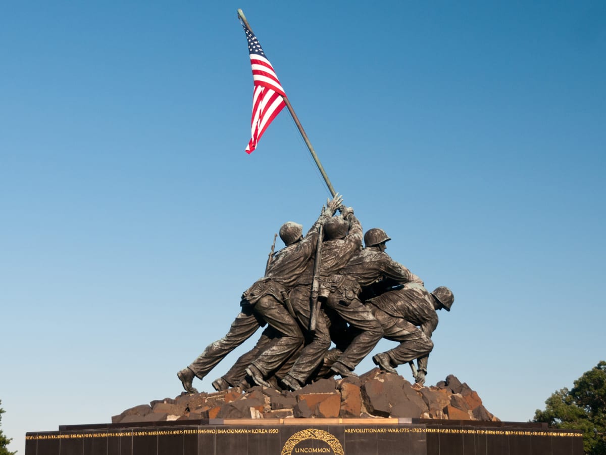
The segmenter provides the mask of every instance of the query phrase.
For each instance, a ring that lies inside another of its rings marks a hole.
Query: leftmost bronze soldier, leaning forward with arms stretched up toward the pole
[[[282,363],[284,353],[288,357],[299,348],[304,340],[303,334],[298,323],[282,305],[282,300],[296,284],[299,275],[308,268],[308,263],[316,251],[319,226],[335,214],[341,201],[342,197],[338,195],[328,201],[328,207],[322,211],[305,238],[302,237],[301,224],[289,221],[282,225],[280,238],[286,246],[275,254],[267,267],[265,277],[256,281],[242,294],[242,309],[231,324],[230,330],[222,339],[208,345],[191,365],[177,373],[185,391],[196,393],[192,386],[193,378],[203,379],[229,352],[244,343],[265,323],[276,329],[279,336],[272,345],[273,351],[265,351],[267,355],[256,359],[247,369],[255,382],[264,383],[264,377]]]

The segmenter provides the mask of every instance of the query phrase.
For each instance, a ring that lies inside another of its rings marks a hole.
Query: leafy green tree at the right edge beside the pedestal
[[[585,454],[606,455],[606,362],[583,373],[570,390],[563,388],[537,409],[534,422],[553,428],[581,430]]]

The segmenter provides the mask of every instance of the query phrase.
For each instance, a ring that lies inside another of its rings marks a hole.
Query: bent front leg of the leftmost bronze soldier
[[[302,345],[303,332],[284,305],[271,295],[265,295],[256,303],[255,312],[278,332],[269,348],[251,363],[268,377]]]

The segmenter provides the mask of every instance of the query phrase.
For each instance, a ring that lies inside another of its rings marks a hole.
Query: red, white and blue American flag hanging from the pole
[[[286,106],[284,98],[282,98],[286,95],[271,63],[265,57],[259,40],[244,24],[242,27],[244,27],[248,41],[250,65],[253,69],[253,82],[255,83],[253,116],[250,120],[251,140],[246,147],[246,153],[252,153],[271,121]]]

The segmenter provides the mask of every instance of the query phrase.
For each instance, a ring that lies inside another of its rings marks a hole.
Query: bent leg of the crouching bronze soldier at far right
[[[414,324],[404,318],[391,316],[374,306],[372,312],[384,329],[384,338],[400,343],[395,348],[381,353],[389,357],[391,365],[398,366],[427,356],[433,349],[430,337]]]

